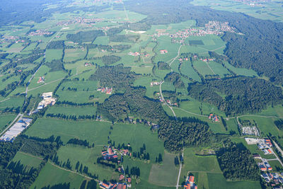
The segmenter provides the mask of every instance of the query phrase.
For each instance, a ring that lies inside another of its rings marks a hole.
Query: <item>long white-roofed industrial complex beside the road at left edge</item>
[[[13,142],[18,134],[21,134],[21,132],[23,132],[23,130],[25,130],[28,125],[30,125],[30,122],[32,122],[32,120],[33,119],[30,118],[21,118],[20,120],[18,120],[18,122],[14,123],[13,126],[2,135],[2,137],[0,137],[0,140]]]

